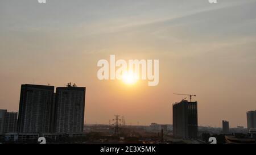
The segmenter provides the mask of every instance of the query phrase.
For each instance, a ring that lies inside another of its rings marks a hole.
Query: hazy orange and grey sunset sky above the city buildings
[[[86,86],[85,123],[172,124],[172,103],[197,96],[199,125],[246,125],[255,110],[256,1],[0,0],[0,109],[20,85]],[[99,81],[97,61],[159,59],[159,85]]]

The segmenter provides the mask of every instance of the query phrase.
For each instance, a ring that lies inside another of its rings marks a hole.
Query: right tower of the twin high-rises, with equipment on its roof
[[[84,128],[85,87],[57,87],[54,131],[82,132]]]

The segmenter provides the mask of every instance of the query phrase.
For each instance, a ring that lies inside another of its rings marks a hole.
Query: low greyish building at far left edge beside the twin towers
[[[0,135],[8,132],[16,132],[18,112],[0,110]]]

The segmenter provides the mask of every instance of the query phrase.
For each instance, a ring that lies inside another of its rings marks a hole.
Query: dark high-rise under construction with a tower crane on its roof
[[[181,100],[172,105],[173,133],[175,137],[193,139],[197,137],[197,102]]]

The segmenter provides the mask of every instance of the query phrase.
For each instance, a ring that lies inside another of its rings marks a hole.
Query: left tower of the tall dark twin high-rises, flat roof
[[[20,90],[18,132],[51,132],[54,86],[22,85]]]

